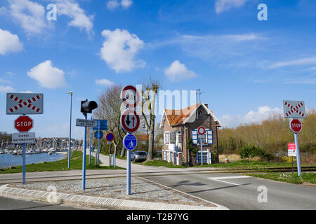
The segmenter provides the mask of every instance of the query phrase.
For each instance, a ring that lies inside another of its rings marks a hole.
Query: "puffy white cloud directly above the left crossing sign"
[[[58,88],[66,85],[64,71],[52,66],[51,60],[34,66],[27,75],[39,82],[39,85],[47,88]]]

